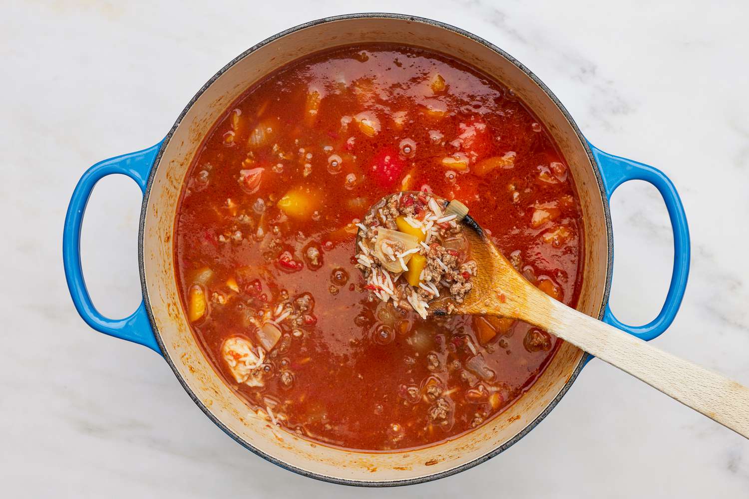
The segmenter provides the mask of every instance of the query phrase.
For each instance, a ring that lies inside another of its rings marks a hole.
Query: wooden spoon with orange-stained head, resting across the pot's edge
[[[539,326],[749,438],[748,388],[552,299],[515,270],[473,218],[462,223],[479,270],[453,315],[503,316]],[[449,313],[437,303],[428,311]]]

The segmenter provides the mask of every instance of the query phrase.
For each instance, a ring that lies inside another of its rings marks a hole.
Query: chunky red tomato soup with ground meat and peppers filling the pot
[[[557,339],[521,322],[422,320],[367,301],[354,224],[409,189],[462,200],[532,283],[576,304],[577,194],[551,135],[512,90],[410,46],[294,61],[216,122],[175,221],[195,337],[271,423],[357,450],[422,447],[491,420],[554,355]],[[251,353],[231,350],[237,343]]]

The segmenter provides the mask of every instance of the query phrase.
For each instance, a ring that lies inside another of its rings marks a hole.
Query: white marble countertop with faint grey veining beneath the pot
[[[237,54],[346,1],[60,1],[0,16],[0,483],[7,498],[748,497],[749,442],[593,361],[526,438],[491,461],[389,491],[309,480],[254,456],[192,403],[167,364],[73,309],[64,212],[85,168],[156,143]],[[560,97],[594,144],[665,171],[693,241],[688,292],[661,348],[749,384],[749,4],[745,1],[361,1],[496,43]],[[718,5],[720,4],[720,5]],[[497,5],[494,7],[493,5]],[[97,306],[139,302],[140,195],[103,180],[83,235]],[[642,183],[613,197],[612,306],[645,322],[672,259]]]

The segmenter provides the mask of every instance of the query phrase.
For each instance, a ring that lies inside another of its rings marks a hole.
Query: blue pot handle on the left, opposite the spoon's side
[[[148,313],[146,313],[143,301],[135,312],[124,319],[109,319],[94,307],[83,279],[80,242],[83,213],[96,183],[107,175],[127,175],[127,177],[136,181],[141,192],[145,194],[148,175],[151,173],[151,167],[154,165],[160,147],[161,143],[137,153],[105,159],[88,168],[78,181],[78,185],[73,191],[73,197],[70,198],[62,232],[62,260],[65,267],[67,287],[70,290],[73,304],[75,304],[82,319],[97,331],[123,340],[140,343],[159,354],[161,354],[161,350],[154,336],[154,331],[151,329],[151,322],[148,320]]]

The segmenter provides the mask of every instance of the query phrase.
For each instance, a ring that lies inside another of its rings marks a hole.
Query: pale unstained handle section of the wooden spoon
[[[549,332],[749,438],[749,389],[744,385],[558,301],[553,307],[539,321]]]

